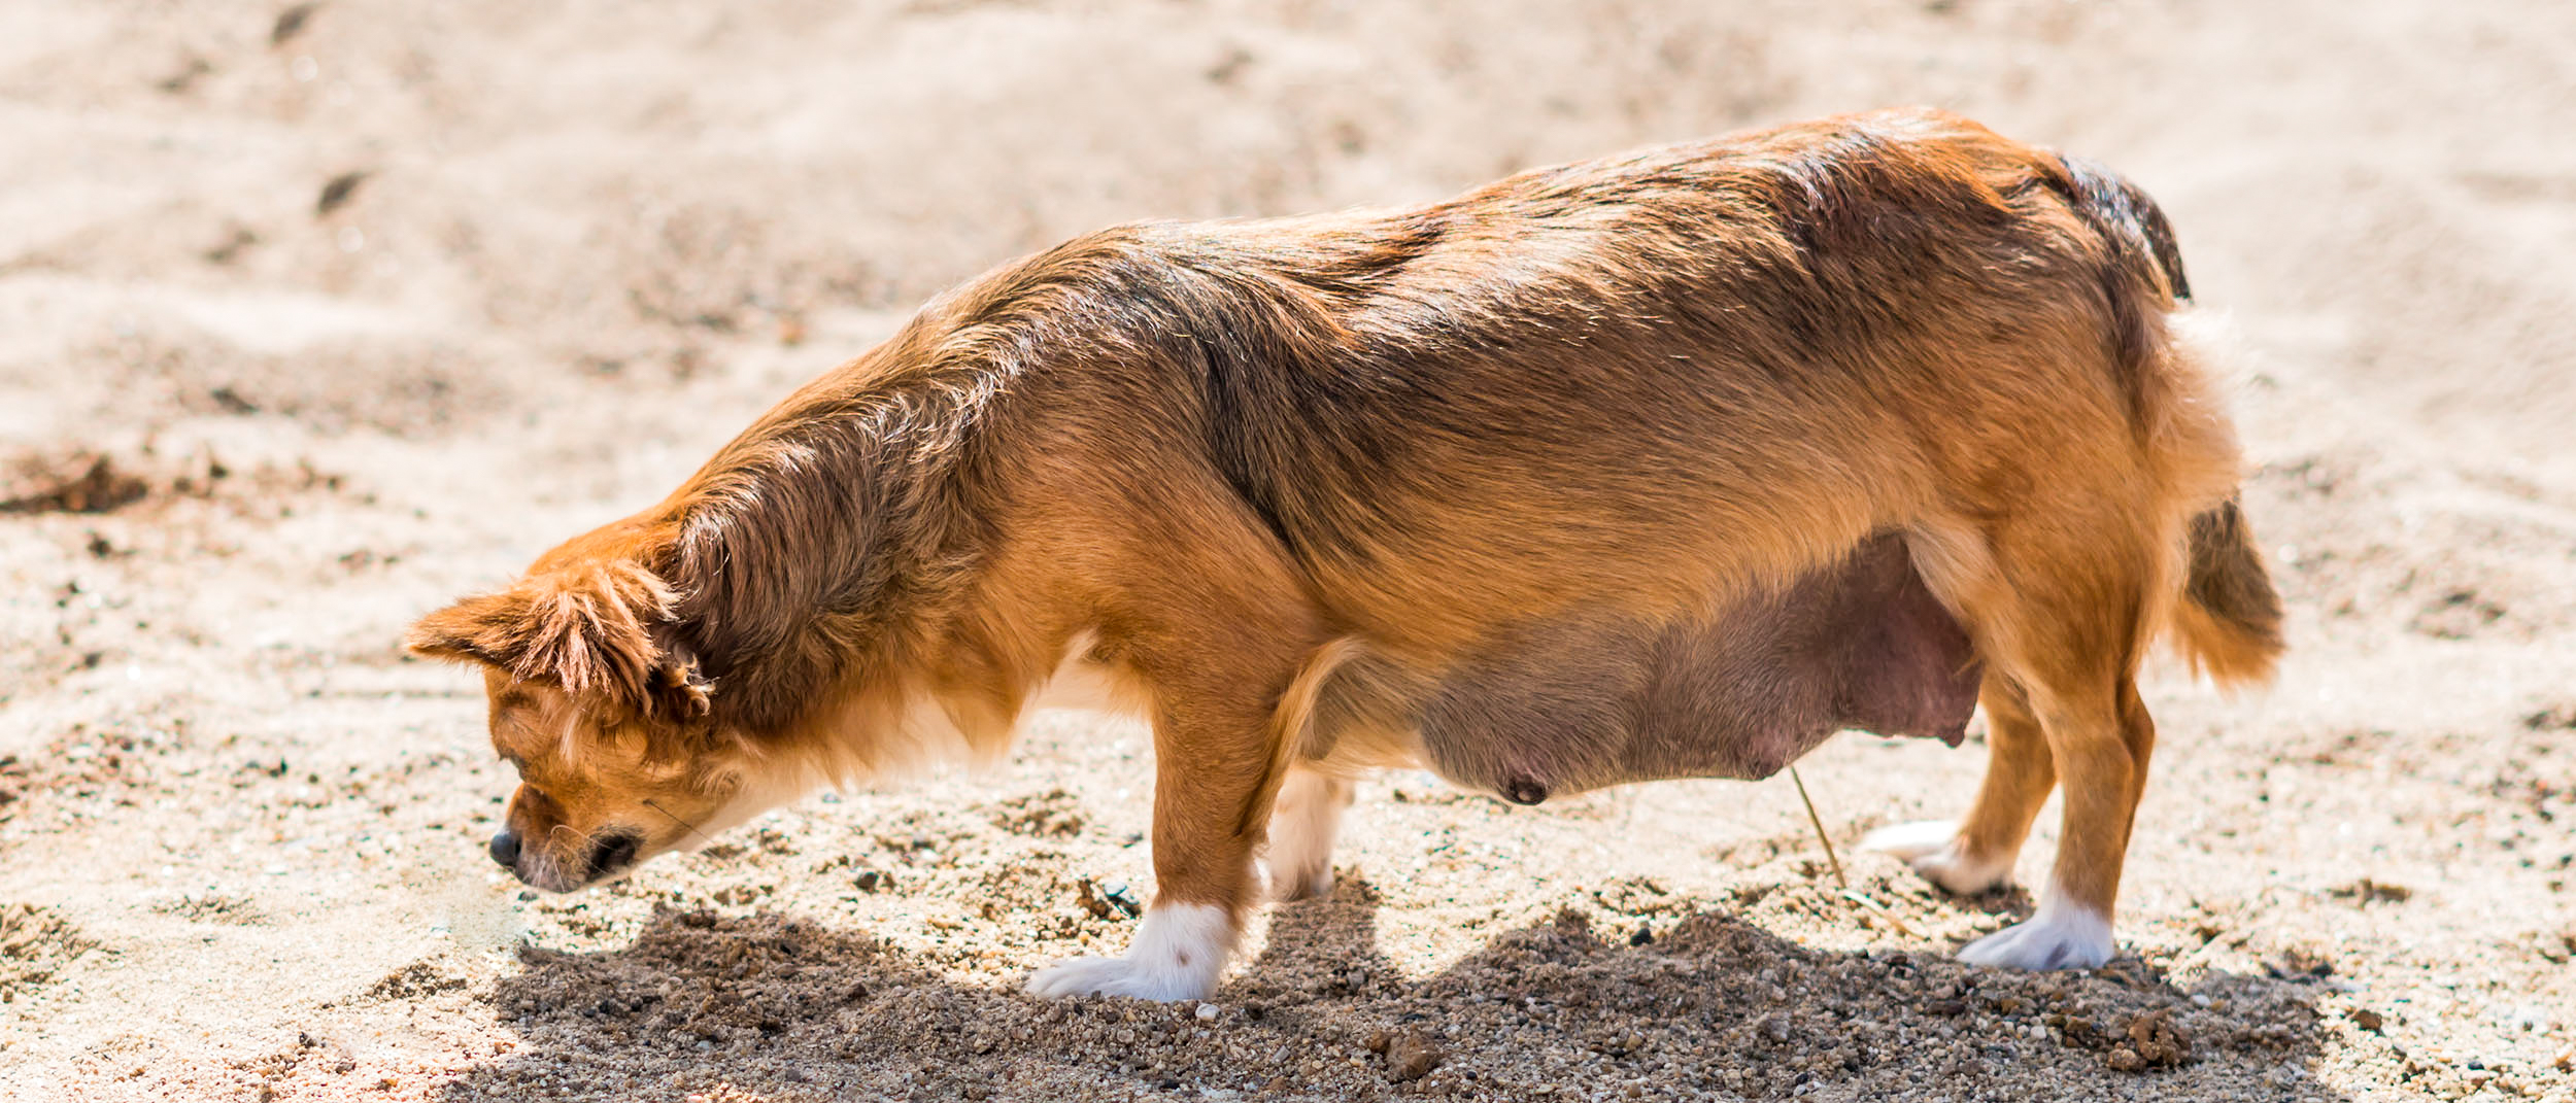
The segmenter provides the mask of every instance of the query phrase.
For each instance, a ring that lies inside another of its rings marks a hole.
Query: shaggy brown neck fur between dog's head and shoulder
[[[979,428],[1010,366],[943,330],[914,322],[806,387],[662,505],[657,570],[680,593],[675,634],[714,680],[719,729],[773,742],[896,727],[925,696],[948,714],[1018,714],[1033,675],[958,593],[992,541],[958,472],[987,451]]]

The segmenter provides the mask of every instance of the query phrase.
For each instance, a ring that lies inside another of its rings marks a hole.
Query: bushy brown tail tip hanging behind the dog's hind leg
[[[2192,518],[2190,546],[2192,572],[2172,619],[2182,657],[2223,686],[2269,680],[2282,652],[2280,593],[2233,497]]]

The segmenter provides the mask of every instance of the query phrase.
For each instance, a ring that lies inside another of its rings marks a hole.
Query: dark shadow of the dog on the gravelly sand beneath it
[[[2298,977],[1816,951],[1723,907],[1561,912],[1406,977],[1376,902],[1345,879],[1278,907],[1208,1005],[1036,1000],[853,930],[662,912],[626,948],[523,951],[492,992],[518,1049],[440,1098],[2342,1098]]]

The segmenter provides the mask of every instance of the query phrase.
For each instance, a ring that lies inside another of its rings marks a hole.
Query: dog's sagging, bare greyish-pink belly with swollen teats
[[[1520,804],[1654,778],[1767,778],[1842,729],[1958,745],[1978,660],[1904,539],[1654,629],[1551,621],[1453,667],[1417,711],[1445,778]]]

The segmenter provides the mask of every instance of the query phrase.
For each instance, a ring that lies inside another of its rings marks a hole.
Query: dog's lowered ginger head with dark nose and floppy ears
[[[556,552],[518,585],[412,626],[415,655],[479,662],[518,794],[492,861],[572,892],[744,820],[752,758],[672,637],[672,590],[629,557]]]

